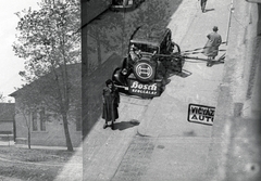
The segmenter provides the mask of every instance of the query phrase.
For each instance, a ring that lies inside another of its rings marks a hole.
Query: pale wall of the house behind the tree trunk
[[[16,107],[17,109],[18,107]],[[30,117],[27,117],[30,118]],[[18,112],[15,115],[16,124],[16,144],[27,144],[28,129],[26,126],[26,119],[23,114]],[[38,131],[33,131],[33,122],[30,119],[30,144],[44,145],[44,146],[66,146],[63,121],[53,117],[46,121],[46,131],[40,131],[40,119],[37,119]],[[76,124],[74,121],[69,122],[71,141],[74,147],[80,145],[82,131],[76,131]]]

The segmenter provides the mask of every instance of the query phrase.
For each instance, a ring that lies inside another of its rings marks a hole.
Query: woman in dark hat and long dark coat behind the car
[[[105,85],[107,87],[103,88],[102,92],[102,118],[105,119],[103,129],[109,126],[109,121],[111,121],[111,129],[113,129],[113,124],[119,118],[117,107],[120,104],[120,94],[117,88],[114,86],[114,82],[111,79],[108,79]]]

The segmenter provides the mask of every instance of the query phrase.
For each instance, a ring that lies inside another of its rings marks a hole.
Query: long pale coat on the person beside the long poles
[[[216,56],[219,53],[219,47],[222,42],[222,38],[215,31],[209,34],[207,37],[209,40],[204,46],[203,54],[206,56]]]

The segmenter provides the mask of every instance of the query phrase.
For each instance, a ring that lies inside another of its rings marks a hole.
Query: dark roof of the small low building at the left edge
[[[0,121],[13,120],[15,115],[14,103],[0,103]]]

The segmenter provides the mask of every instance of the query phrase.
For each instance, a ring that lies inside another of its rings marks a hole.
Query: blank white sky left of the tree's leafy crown
[[[24,60],[14,55],[12,44],[15,39],[15,27],[18,23],[18,17],[14,14],[24,9],[38,9],[37,2],[41,0],[8,0],[0,1],[0,93],[7,98],[5,101],[12,100],[8,96],[14,92],[16,88],[21,88],[23,81],[18,75],[20,70],[24,69]]]

